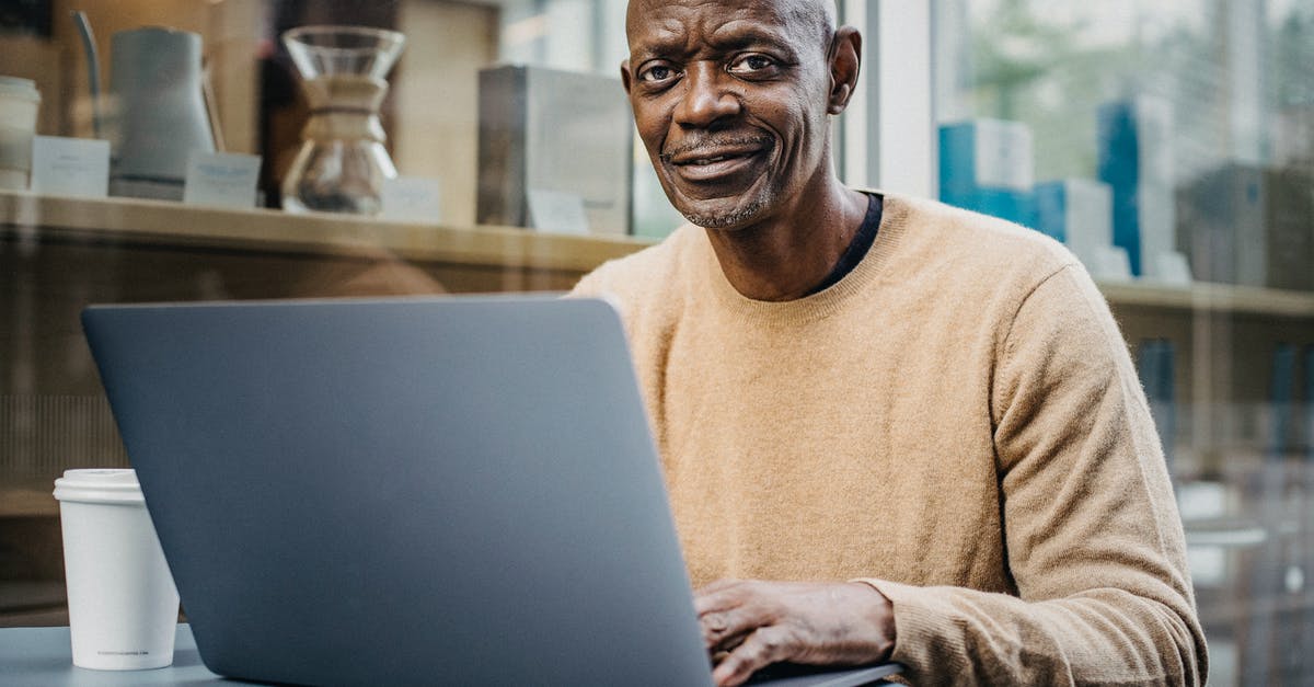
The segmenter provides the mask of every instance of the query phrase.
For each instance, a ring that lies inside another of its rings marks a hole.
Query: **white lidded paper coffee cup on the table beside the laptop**
[[[74,665],[143,670],[173,662],[177,590],[133,470],[66,470],[64,534]]]

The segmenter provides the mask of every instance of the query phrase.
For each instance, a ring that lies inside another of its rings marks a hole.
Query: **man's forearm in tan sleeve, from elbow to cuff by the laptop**
[[[1204,648],[1167,604],[1125,590],[1025,601],[870,580],[894,605],[892,661],[928,684],[1200,684]],[[1184,608],[1175,608],[1184,607]]]

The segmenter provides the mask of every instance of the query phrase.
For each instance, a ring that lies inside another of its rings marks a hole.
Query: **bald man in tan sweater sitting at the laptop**
[[[1158,437],[1072,255],[837,180],[861,37],[830,1],[633,0],[627,32],[691,224],[576,293],[622,307],[717,683],[1202,682]]]

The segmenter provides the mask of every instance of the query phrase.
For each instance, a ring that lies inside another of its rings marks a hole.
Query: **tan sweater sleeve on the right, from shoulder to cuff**
[[[1067,266],[1024,300],[992,380],[1018,596],[863,580],[916,683],[1200,684],[1204,633],[1159,438],[1126,345]]]

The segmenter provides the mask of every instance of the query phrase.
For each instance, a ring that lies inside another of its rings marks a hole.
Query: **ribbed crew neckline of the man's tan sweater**
[[[880,217],[880,229],[876,240],[849,274],[829,288],[794,300],[756,300],[740,293],[716,259],[711,240],[706,229],[696,237],[699,253],[704,266],[704,278],[711,283],[717,303],[733,317],[767,326],[798,326],[829,317],[840,311],[841,305],[854,293],[862,292],[867,286],[884,272],[884,266],[890,263],[892,255],[903,241],[904,230],[908,225],[911,212],[907,199],[884,193],[875,190],[863,190],[865,193],[880,193],[884,211]]]

